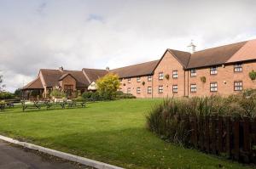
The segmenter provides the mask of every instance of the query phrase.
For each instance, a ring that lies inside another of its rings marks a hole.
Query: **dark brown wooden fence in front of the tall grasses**
[[[256,163],[256,121],[230,116],[189,116],[189,144],[195,149]]]

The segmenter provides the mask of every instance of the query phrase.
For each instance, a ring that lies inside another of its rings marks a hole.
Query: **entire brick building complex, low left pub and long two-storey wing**
[[[137,98],[228,95],[256,88],[248,74],[256,70],[256,40],[237,42],[190,53],[166,49],[159,60],[129,65],[114,70],[40,70],[37,79],[23,91],[38,90],[43,97],[54,88],[81,92],[96,89],[96,80],[116,73],[120,90]]]

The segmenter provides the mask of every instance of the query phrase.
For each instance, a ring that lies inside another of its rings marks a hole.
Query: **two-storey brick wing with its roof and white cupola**
[[[248,74],[256,70],[256,40],[195,52],[167,49],[160,60],[111,70],[121,91],[137,98],[229,95],[256,88]]]

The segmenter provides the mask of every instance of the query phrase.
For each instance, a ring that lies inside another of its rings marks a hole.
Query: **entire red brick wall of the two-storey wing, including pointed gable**
[[[248,74],[251,70],[256,70],[256,62],[242,64],[242,72],[234,72],[234,65],[218,66],[218,74],[210,75],[210,67],[196,69],[196,76],[190,76],[190,70],[183,70],[177,59],[172,54],[166,52],[161,59],[160,64],[154,70],[152,82],[148,82],[148,76],[141,76],[141,82],[137,82],[137,77],[122,80],[121,91],[127,93],[127,88],[131,87],[131,94],[137,98],[166,98],[183,97],[183,96],[210,96],[212,94],[229,95],[238,93],[234,91],[234,82],[241,81],[243,89],[256,88],[256,82],[253,82]],[[172,78],[172,71],[177,70],[177,78]],[[159,80],[159,73],[163,72],[164,76],[169,75],[169,80],[164,77]],[[201,82],[201,76],[206,77],[206,82]],[[143,86],[143,82],[145,85]],[[210,82],[218,83],[218,92],[210,92]],[[125,86],[124,86],[125,84]],[[196,84],[196,92],[191,93],[190,85]],[[172,85],[177,85],[177,93],[172,93]],[[148,86],[152,87],[152,94],[148,93]],[[163,93],[159,93],[159,86],[163,86]],[[141,87],[141,93],[137,93],[137,87]]]

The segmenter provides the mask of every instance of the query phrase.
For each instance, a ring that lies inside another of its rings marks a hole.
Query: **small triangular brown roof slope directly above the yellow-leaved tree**
[[[108,74],[108,70],[87,69],[87,68],[84,68],[83,72],[85,77],[90,83],[96,82],[97,79]]]

